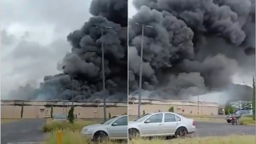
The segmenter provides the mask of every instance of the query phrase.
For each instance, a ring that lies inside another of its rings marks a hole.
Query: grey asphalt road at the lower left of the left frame
[[[41,132],[46,119],[24,119],[1,125],[1,143],[43,141],[45,134]]]

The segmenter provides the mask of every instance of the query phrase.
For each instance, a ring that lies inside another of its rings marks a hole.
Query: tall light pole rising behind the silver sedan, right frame
[[[143,25],[140,23],[136,23],[136,25],[140,25],[142,26],[142,40],[141,40],[141,60],[139,62],[139,103],[138,103],[138,118],[141,115],[141,81],[142,81],[142,62],[143,62],[143,41],[144,41],[144,27],[151,27],[153,28],[153,26],[149,26],[149,25]]]

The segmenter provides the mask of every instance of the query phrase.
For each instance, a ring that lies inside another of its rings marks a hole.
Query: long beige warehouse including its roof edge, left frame
[[[23,104],[22,104],[23,103]],[[49,118],[51,106],[53,113],[67,114],[72,103],[60,101],[1,101],[1,118]],[[107,116],[127,114],[127,103],[107,102]],[[77,118],[103,118],[103,103],[74,102],[74,114]]]

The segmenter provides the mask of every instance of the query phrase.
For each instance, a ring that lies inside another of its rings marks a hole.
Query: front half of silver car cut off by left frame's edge
[[[107,121],[83,127],[81,134],[93,141],[128,138],[127,115],[114,116]]]

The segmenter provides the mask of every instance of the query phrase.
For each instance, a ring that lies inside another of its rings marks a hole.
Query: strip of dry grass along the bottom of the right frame
[[[133,139],[129,144],[252,144],[255,143],[255,135],[232,135],[226,137],[204,137],[187,139]]]

